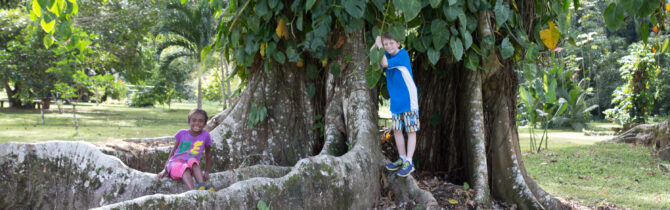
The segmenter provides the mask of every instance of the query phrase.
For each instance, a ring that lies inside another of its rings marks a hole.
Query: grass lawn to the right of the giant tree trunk
[[[595,126],[612,126],[608,124]],[[520,128],[521,149],[529,134]],[[670,174],[644,146],[599,142],[612,136],[550,130],[549,150],[525,152],[528,173],[552,195],[588,206],[670,209]]]

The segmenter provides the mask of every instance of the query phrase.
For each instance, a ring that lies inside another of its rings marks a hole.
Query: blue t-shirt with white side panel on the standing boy
[[[385,55],[389,64],[386,68],[386,88],[391,96],[391,112],[418,111],[418,95],[407,50],[400,49],[395,56],[388,52]]]

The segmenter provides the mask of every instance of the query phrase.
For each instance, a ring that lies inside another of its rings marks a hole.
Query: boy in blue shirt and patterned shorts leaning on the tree
[[[412,156],[416,149],[416,132],[419,131],[419,100],[412,75],[412,66],[407,50],[389,33],[377,37],[373,47],[384,48],[382,68],[386,70],[386,88],[391,97],[393,113],[392,130],[400,159],[386,164],[386,169],[398,170],[398,176],[406,177],[414,171]],[[407,132],[407,150],[402,129]]]

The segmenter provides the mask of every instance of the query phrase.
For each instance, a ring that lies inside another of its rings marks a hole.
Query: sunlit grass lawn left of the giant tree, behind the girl
[[[79,135],[75,136],[72,106],[64,105],[58,113],[56,104],[45,112],[41,124],[39,110],[0,109],[0,143],[40,142],[48,140],[104,141],[120,138],[146,138],[174,135],[188,128],[186,116],[194,103],[175,103],[171,108],[131,108],[125,104],[77,103]],[[216,102],[203,103],[212,117],[221,106]]]

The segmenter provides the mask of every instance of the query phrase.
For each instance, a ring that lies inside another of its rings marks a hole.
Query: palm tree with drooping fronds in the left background
[[[208,54],[212,37],[216,35],[214,11],[209,1],[182,4],[178,0],[167,3],[163,17],[159,20],[154,34],[163,34],[165,41],[158,44],[156,54],[162,57],[160,69],[167,69],[172,61],[186,57],[193,59],[198,77],[198,109],[202,109],[202,72],[203,61]],[[177,50],[164,50],[174,47]]]

